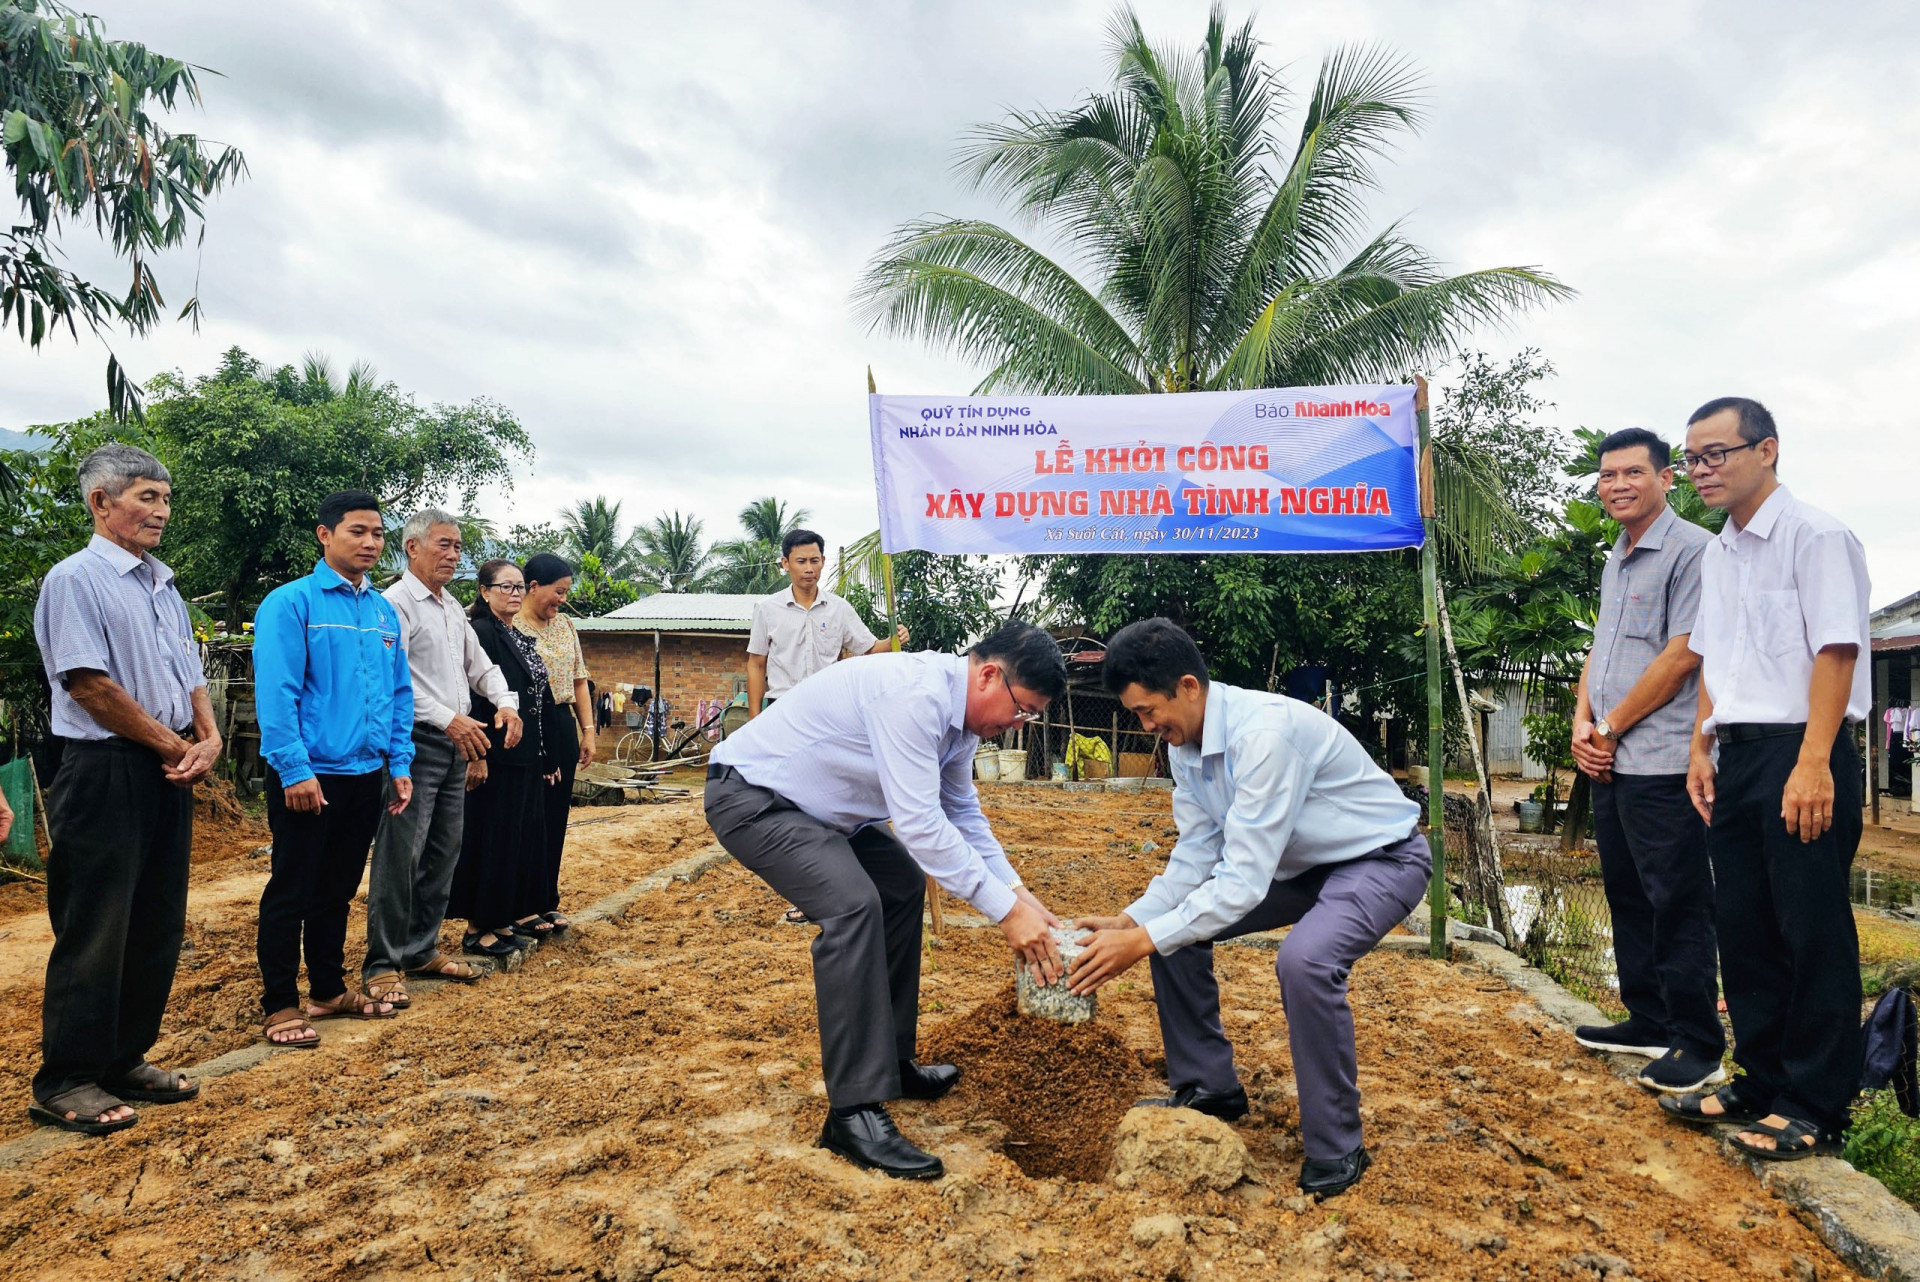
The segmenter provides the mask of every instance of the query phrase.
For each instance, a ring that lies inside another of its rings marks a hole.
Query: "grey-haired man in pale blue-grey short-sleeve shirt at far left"
[[[40,1071],[29,1113],[84,1134],[179,1104],[196,1082],[146,1052],[186,931],[194,783],[221,754],[200,647],[173,570],[154,557],[173,512],[159,459],[102,445],[79,472],[94,537],[48,570],[33,635],[52,687],[60,768],[48,789]]]

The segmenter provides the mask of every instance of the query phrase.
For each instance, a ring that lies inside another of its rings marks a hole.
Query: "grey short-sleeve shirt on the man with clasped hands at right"
[[[1672,509],[1663,510],[1628,547],[1628,534],[1599,574],[1599,620],[1594,624],[1594,664],[1586,697],[1594,718],[1620,706],[1667,645],[1693,631],[1699,614],[1699,560],[1713,535]],[[1663,706],[1626,729],[1613,750],[1622,775],[1684,775],[1699,710],[1699,674]]]

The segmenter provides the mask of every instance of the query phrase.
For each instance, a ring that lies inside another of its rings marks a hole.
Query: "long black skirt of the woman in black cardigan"
[[[467,795],[461,862],[447,917],[493,931],[532,912],[547,871],[545,781],[538,766],[488,758],[488,779]]]

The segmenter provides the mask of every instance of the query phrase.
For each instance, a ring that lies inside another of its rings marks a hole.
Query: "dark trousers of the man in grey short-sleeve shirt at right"
[[[1713,867],[1686,775],[1596,779],[1594,839],[1626,1013],[1668,1046],[1718,1059]]]

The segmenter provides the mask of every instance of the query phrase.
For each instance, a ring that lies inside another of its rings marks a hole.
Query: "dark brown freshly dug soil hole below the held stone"
[[[958,1063],[975,1109],[1006,1128],[1002,1148],[1025,1175],[1098,1180],[1114,1163],[1114,1127],[1152,1086],[1139,1052],[1098,1019],[1027,1019],[1008,986],[925,1038],[929,1063]]]

